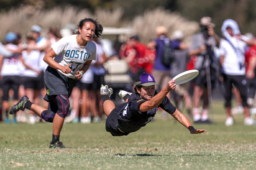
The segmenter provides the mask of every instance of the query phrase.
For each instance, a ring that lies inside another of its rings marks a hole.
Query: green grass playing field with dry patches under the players
[[[214,124],[191,135],[174,120],[156,119],[128,136],[113,137],[105,122],[64,124],[69,149],[49,149],[52,124],[0,123],[0,169],[256,169],[256,126],[224,125],[222,101],[214,101]],[[186,115],[186,112],[184,113]]]

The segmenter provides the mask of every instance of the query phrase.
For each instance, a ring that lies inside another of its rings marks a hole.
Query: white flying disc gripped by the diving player
[[[175,84],[179,85],[194,79],[198,74],[198,70],[188,70],[176,75],[173,80],[175,80]]]

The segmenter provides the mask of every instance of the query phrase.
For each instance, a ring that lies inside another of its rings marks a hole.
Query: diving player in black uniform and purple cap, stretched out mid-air
[[[112,88],[108,85],[101,85],[100,95],[102,98],[103,108],[106,119],[106,130],[113,136],[128,135],[146,126],[156,114],[158,107],[171,114],[183,126],[188,128],[191,134],[206,132],[204,129],[195,129],[189,120],[176,109],[166,95],[176,88],[174,80],[161,90],[155,89],[156,83],[154,77],[149,73],[140,74],[135,80],[134,92],[129,93],[124,90],[119,92],[119,96],[124,99],[125,103],[115,106],[110,100],[113,93]]]

